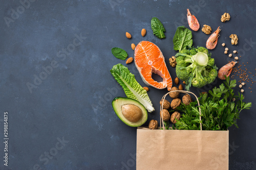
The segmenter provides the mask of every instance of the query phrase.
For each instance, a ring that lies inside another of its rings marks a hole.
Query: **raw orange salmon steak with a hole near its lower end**
[[[150,41],[139,42],[134,51],[134,61],[145,84],[158,89],[172,88],[172,77],[166,67],[163,54],[156,44]],[[163,81],[153,80],[152,73],[159,75]]]

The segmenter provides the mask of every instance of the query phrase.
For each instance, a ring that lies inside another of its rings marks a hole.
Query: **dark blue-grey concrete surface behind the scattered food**
[[[31,0],[23,5],[3,0],[0,6],[0,134],[3,138],[3,114],[8,111],[10,138],[9,164],[6,167],[1,160],[0,169],[135,169],[136,128],[123,124],[111,106],[113,98],[125,94],[109,70],[117,63],[126,64],[111,54],[111,48],[121,47],[132,57],[131,43],[152,41],[162,50],[174,79],[168,58],[176,54],[172,42],[176,28],[188,27],[187,8],[201,27],[207,24],[215,31],[221,26],[219,43],[211,51],[217,66],[233,59],[224,55],[225,42],[229,52],[240,52],[240,62],[249,63],[245,67],[255,80],[254,1]],[[226,23],[220,20],[224,12],[231,15]],[[152,17],[162,21],[166,39],[153,35]],[[143,28],[145,37],[140,35]],[[125,32],[132,39],[125,38]],[[230,34],[238,35],[238,45],[231,45]],[[193,37],[195,46],[205,46],[208,35],[198,31]],[[127,67],[145,86],[135,65]],[[44,80],[34,82],[40,76]],[[218,79],[191,91],[198,94],[220,83]],[[255,103],[255,85],[249,84],[245,101]],[[156,111],[148,113],[145,126],[151,119],[159,120],[159,101],[166,92],[150,87]],[[241,113],[239,129],[229,128],[230,169],[256,169],[255,120],[253,105]],[[45,156],[48,152],[54,156]]]

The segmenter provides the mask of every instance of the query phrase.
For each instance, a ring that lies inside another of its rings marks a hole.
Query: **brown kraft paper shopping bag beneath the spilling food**
[[[228,169],[228,131],[138,127],[136,157],[138,170],[225,170]]]

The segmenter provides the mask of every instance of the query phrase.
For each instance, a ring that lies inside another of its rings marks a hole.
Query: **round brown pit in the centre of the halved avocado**
[[[142,110],[135,105],[122,105],[123,116],[132,123],[138,122],[142,117]]]

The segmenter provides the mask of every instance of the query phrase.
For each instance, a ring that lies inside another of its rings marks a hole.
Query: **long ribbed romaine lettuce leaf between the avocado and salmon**
[[[116,81],[122,86],[127,98],[140,102],[148,112],[154,111],[154,107],[146,90],[136,81],[129,69],[122,64],[114,65],[110,70]]]

